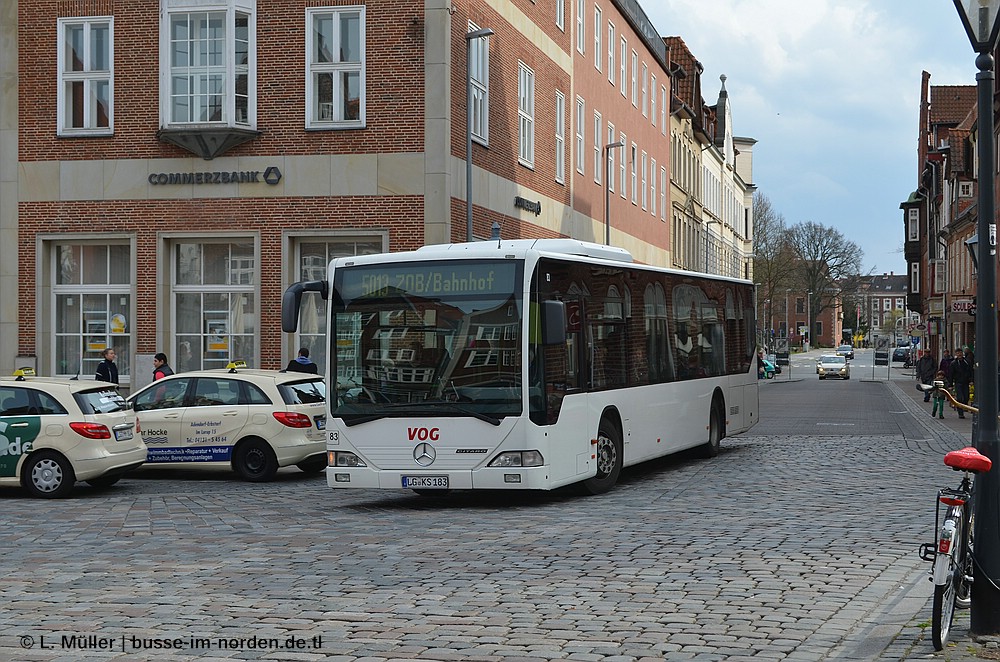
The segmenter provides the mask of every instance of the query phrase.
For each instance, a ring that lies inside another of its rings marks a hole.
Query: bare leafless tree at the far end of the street
[[[836,306],[843,296],[857,292],[864,252],[839,230],[804,221],[789,228],[788,243],[797,258],[798,287],[812,292],[812,319]],[[812,320],[809,325],[811,329]]]

